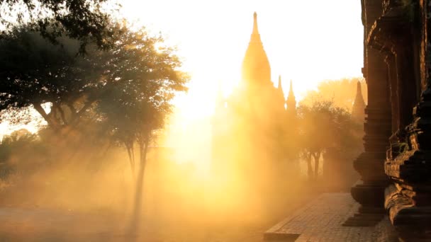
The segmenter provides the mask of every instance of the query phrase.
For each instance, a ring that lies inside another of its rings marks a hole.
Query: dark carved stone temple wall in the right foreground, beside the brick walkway
[[[431,240],[430,4],[362,0],[368,104],[351,191],[362,207],[348,224],[387,214],[403,241]]]

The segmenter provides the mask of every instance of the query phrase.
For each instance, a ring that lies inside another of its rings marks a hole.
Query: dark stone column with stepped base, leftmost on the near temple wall
[[[382,1],[362,0],[363,73],[368,104],[365,108],[364,152],[353,163],[361,180],[351,188],[352,197],[361,207],[358,214],[347,219],[345,226],[373,226],[384,217],[384,190],[389,184],[384,173],[384,161],[392,131],[388,68],[381,53],[367,43],[368,35],[382,12]]]

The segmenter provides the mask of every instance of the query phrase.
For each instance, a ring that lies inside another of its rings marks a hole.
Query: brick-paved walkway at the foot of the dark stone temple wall
[[[374,227],[347,227],[342,223],[359,204],[349,193],[324,193],[265,232],[278,241],[393,241],[395,231],[387,217]]]

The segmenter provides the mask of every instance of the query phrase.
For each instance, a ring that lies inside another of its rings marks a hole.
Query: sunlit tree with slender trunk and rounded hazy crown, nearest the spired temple
[[[125,32],[110,57],[109,76],[123,80],[121,88],[111,86],[101,96],[98,112],[112,137],[128,150],[134,171],[133,144],[139,149],[133,230],[139,224],[147,151],[158,129],[172,111],[171,100],[186,91],[188,76],[179,71],[181,62],[163,39],[150,37],[145,30]]]

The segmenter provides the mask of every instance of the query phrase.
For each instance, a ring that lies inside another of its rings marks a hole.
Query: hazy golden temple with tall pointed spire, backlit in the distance
[[[216,103],[212,142],[215,171],[246,170],[252,177],[280,171],[274,163],[292,159],[284,141],[293,132],[289,127],[295,122],[296,100],[292,82],[286,100],[281,81],[279,76],[274,86],[254,13],[240,85],[228,98],[219,92]]]

